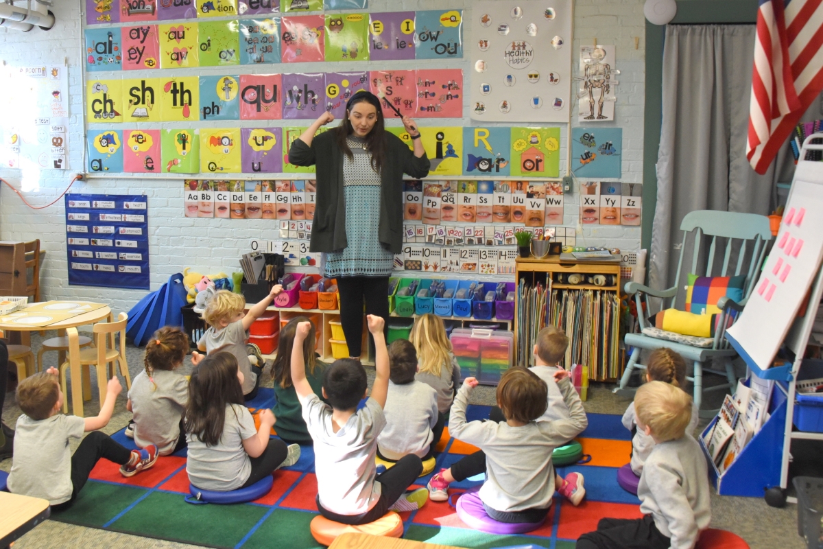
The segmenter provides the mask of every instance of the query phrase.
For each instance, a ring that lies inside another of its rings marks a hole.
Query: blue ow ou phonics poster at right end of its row
[[[417,59],[463,58],[463,11],[416,12]]]

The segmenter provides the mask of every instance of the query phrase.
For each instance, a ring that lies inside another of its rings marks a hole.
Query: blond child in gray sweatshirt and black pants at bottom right
[[[637,486],[642,519],[601,519],[577,549],[693,549],[709,528],[709,472],[700,444],[686,433],[691,397],[662,381],[637,389],[637,430],[654,440]]]

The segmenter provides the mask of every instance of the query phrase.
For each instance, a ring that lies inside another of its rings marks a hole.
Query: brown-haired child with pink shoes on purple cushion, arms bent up
[[[481,450],[431,478],[429,497],[449,499],[449,482],[463,481],[482,472],[486,482],[480,498],[491,519],[504,523],[536,523],[546,517],[555,490],[579,505],[586,493],[583,475],[556,475],[551,453],[588,426],[586,412],[568,375],[558,382],[569,417],[537,422],[547,406],[546,382],[525,368],[511,368],[500,377],[497,404],[505,422],[466,422],[469,393],[477,379],[467,378],[454,398],[449,430],[457,440],[474,444]]]

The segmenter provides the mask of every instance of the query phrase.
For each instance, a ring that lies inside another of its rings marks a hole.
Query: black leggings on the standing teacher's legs
[[[337,277],[340,291],[340,323],[346,335],[349,356],[360,356],[363,342],[363,300],[365,314],[383,317],[388,330],[388,277]]]

